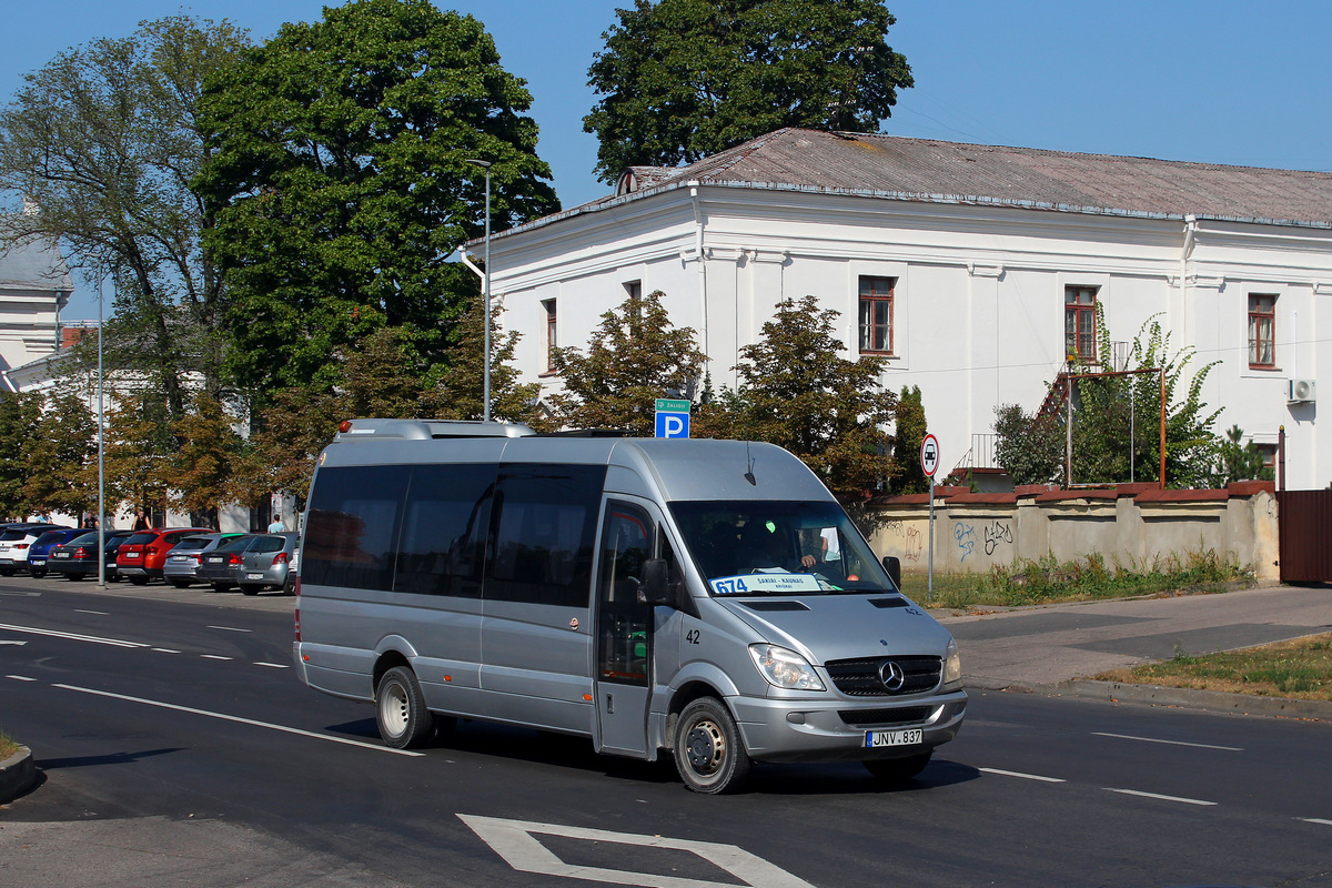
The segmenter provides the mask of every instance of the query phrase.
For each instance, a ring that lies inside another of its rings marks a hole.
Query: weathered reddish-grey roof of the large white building
[[[625,188],[631,182],[631,188]],[[1332,173],[778,129],[679,166],[631,168],[618,194],[510,232],[686,184],[1148,218],[1332,228]],[[477,241],[480,242],[480,241]]]

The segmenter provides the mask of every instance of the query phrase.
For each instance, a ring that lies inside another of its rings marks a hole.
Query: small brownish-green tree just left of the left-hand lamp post
[[[32,511],[76,518],[97,510],[97,422],[83,398],[41,398],[41,417],[27,449],[24,494]]]

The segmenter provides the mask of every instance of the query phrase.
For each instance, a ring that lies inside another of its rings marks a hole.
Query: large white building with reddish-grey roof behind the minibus
[[[1090,347],[1092,306],[1118,341],[1159,316],[1195,367],[1221,362],[1203,391],[1219,430],[1273,451],[1284,426],[1287,486],[1332,481],[1313,385],[1332,366],[1328,173],[782,129],[627,170],[614,196],[496,234],[492,265],[518,369],[546,391],[549,349],[585,346],[633,290],[667,294],[715,386],[778,301],[814,294],[851,357],[920,386],[944,469],[998,403],[1040,406]]]

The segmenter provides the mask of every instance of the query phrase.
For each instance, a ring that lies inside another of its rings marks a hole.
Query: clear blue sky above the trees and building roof
[[[0,96],[57,52],[132,33],[181,8],[249,28],[310,21],[309,0],[3,0]],[[527,81],[538,153],[565,206],[606,193],[597,142],[582,132],[595,97],[587,65],[631,0],[446,3],[494,35],[503,67]],[[916,87],[883,124],[896,136],[1332,170],[1328,112],[1332,3],[1325,0],[890,0],[890,43]],[[65,317],[95,317],[76,293]]]

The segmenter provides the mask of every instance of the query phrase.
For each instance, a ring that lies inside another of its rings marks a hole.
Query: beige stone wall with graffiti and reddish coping
[[[928,494],[870,503],[878,529],[870,543],[903,570],[928,566]],[[974,494],[935,487],[934,570],[988,571],[1015,558],[1080,559],[1100,553],[1108,566],[1148,568],[1167,558],[1215,551],[1233,555],[1259,579],[1277,579],[1276,497],[1271,482],[1225,490],[1159,490],[1119,485],[1090,490],[1019,487]]]

